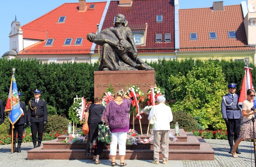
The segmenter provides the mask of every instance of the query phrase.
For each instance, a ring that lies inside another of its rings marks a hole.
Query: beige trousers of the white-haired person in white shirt
[[[154,134],[154,160],[159,161],[160,143],[162,147],[163,160],[168,161],[169,156],[169,130],[153,130]],[[160,142],[161,140],[161,142]]]

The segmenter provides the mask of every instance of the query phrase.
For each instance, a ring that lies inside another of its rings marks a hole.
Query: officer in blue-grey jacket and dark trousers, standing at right
[[[227,131],[228,131],[228,141],[230,145],[229,153],[232,152],[232,149],[234,147],[233,137],[234,137],[234,142],[236,142],[236,140],[239,137],[240,126],[238,126],[238,124],[242,121],[242,118],[243,118],[242,112],[238,107],[239,95],[235,93],[236,86],[237,84],[235,83],[228,84],[229,94],[226,94],[225,96],[223,96],[223,99],[221,102],[222,117],[225,120],[225,123],[227,125]],[[238,148],[236,149],[236,153],[241,154]]]

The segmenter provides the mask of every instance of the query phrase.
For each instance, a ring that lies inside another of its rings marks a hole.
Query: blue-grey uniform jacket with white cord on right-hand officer
[[[224,96],[224,98],[225,98],[227,106],[225,104],[224,99],[222,99],[221,112],[222,112],[223,119],[225,119],[225,118],[239,119],[239,118],[243,117],[242,111],[238,107],[239,95],[235,94],[234,98],[232,99],[232,96],[230,94],[226,94]]]

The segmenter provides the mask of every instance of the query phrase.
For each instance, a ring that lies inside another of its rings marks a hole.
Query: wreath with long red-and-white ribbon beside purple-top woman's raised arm
[[[140,104],[140,102],[142,103],[144,101],[143,91],[139,87],[136,87],[135,85],[133,85],[133,86],[131,86],[130,88],[127,89],[127,92],[125,92],[125,94],[128,94],[128,96],[132,99],[132,105],[134,107],[136,107],[136,112],[137,112],[136,117],[141,119],[142,117],[141,117],[140,114],[142,114],[143,111],[140,110],[139,104]]]

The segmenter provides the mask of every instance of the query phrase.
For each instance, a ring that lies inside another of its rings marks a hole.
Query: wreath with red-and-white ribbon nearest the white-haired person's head
[[[164,89],[157,87],[157,86],[151,86],[151,88],[148,90],[148,106],[157,105],[156,100],[158,96],[163,95],[164,96]]]

